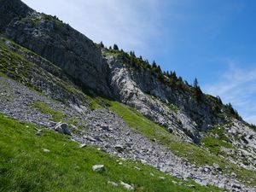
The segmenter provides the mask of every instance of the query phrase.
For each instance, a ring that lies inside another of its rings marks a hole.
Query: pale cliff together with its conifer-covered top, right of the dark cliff
[[[201,131],[229,122],[228,117],[240,119],[218,98],[201,93],[183,80],[155,73],[154,67],[134,55],[106,48],[102,52],[108,61],[115,98],[180,137],[199,142]]]

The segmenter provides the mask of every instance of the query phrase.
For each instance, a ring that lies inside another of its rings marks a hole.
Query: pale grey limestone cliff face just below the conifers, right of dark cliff
[[[149,70],[136,72],[113,56],[106,59],[113,96],[176,135],[197,142],[200,131],[219,122],[211,106],[196,102],[189,92],[161,83]]]

